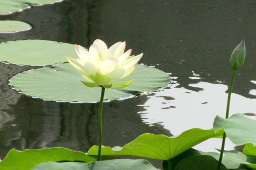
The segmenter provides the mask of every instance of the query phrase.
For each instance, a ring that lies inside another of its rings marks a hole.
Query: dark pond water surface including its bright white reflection
[[[229,57],[242,39],[246,58],[235,77],[230,115],[256,119],[255,7],[253,0],[63,0],[0,15],[32,26],[0,33],[0,42],[44,39],[89,47],[97,38],[108,45],[126,41],[133,55],[144,53],[140,63],[171,73],[171,86],[163,91],[104,103],[103,145],[123,146],[143,133],[175,136],[212,128],[214,117],[225,115]],[[0,158],[12,148],[86,152],[97,145],[98,103],[43,101],[7,85],[31,68],[0,63]],[[209,140],[195,148],[215,151],[220,143]],[[225,149],[233,145],[227,142]],[[153,164],[160,168],[159,161]]]

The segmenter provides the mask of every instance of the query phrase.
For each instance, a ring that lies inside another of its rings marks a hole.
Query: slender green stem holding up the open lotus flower
[[[101,125],[101,117],[102,117],[102,106],[103,106],[103,98],[104,98],[105,88],[101,87],[101,95],[98,106],[98,158],[97,161],[100,161],[100,153],[101,153],[101,145],[102,145],[102,125]]]

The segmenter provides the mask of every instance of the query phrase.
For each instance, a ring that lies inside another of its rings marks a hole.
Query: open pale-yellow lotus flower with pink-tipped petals
[[[134,65],[143,53],[130,56],[131,49],[124,52],[125,42],[117,42],[107,49],[106,44],[96,39],[89,47],[89,51],[80,45],[74,45],[79,58],[66,57],[73,68],[87,81],[81,81],[85,86],[104,88],[123,88],[132,83],[130,81],[113,82],[124,78],[134,70]]]

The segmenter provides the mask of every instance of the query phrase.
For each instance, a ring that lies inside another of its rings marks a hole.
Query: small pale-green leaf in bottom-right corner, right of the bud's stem
[[[224,156],[225,158],[233,162],[244,164],[251,169],[256,169],[255,156],[244,155],[241,152],[237,152],[237,151],[224,151]]]

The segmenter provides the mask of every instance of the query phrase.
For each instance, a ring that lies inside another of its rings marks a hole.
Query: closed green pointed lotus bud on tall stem
[[[230,57],[230,64],[233,68],[239,68],[242,66],[245,58],[245,43],[244,39],[237,45],[237,47],[233,50]]]

